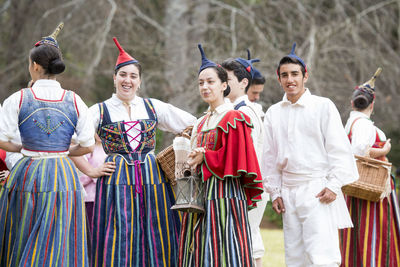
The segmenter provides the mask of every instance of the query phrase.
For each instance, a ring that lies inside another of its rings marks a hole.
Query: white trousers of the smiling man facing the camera
[[[325,185],[325,179],[316,179],[282,187],[285,259],[289,267],[340,265],[339,233],[331,209],[315,197]]]

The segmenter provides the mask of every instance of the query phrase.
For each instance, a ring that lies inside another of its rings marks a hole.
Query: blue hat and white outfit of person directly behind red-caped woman
[[[261,75],[260,72],[253,66],[254,62],[259,61],[258,59],[251,59],[250,51],[248,52],[248,59],[237,58],[236,61],[239,62],[254,78],[255,76]],[[249,116],[251,122],[253,124],[253,128],[251,130],[251,137],[253,139],[254,148],[256,150],[258,162],[261,162],[262,159],[262,149],[263,149],[263,140],[264,140],[264,128],[263,122],[259,115],[259,111],[255,105],[256,103],[252,103],[249,100],[247,94],[238,97],[234,102],[233,106],[235,110],[239,110]],[[253,247],[253,258],[259,259],[264,256],[265,248],[264,242],[262,240],[261,231],[260,231],[260,223],[264,215],[265,207],[267,206],[267,202],[269,196],[266,192],[263,192],[261,195],[261,201],[257,203],[257,207],[249,211],[249,224],[251,230],[251,238],[252,238],[252,247]]]

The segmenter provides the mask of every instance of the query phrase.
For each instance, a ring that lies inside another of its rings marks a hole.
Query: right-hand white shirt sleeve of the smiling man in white
[[[358,179],[358,170],[339,111],[330,100],[324,108],[321,129],[329,162],[327,188],[338,194],[342,186]]]

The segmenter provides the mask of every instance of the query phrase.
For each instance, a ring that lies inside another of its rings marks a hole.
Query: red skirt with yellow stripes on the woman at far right
[[[340,231],[341,266],[400,266],[399,207],[391,183],[391,194],[379,202],[346,197],[354,228]]]

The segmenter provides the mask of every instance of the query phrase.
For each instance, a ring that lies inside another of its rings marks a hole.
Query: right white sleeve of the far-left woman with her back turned
[[[82,147],[94,145],[94,127],[89,109],[80,96],[75,95],[78,112],[78,123],[76,124],[76,142]]]

